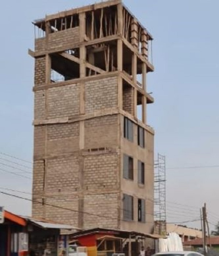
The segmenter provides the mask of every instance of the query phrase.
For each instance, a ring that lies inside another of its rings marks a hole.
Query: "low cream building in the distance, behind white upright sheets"
[[[182,242],[202,238],[202,231],[176,224],[166,224],[166,232],[168,234],[173,232],[177,233],[182,238]]]

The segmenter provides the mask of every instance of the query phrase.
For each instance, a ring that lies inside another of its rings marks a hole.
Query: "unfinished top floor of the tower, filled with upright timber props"
[[[56,49],[58,35],[63,39],[66,32],[69,35],[72,32],[74,47],[80,47],[83,42],[92,44],[111,41],[119,36],[141,57],[150,59],[151,45],[149,44],[153,38],[122,3],[122,0],[104,1],[47,15],[44,19],[35,20],[33,23],[36,38],[35,51],[39,52],[38,55],[46,50],[50,52],[66,50],[65,44],[59,44],[60,49]]]

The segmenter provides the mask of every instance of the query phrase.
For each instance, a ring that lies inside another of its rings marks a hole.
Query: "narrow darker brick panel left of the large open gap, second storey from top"
[[[46,58],[39,57],[35,59],[35,86],[45,84],[46,82]]]

